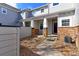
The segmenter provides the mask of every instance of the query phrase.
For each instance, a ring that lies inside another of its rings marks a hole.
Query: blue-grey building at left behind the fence
[[[5,3],[0,3],[0,24],[20,26],[19,20],[22,19],[20,10]]]

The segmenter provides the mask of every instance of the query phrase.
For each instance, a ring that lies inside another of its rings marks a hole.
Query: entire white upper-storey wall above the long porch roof
[[[49,7],[43,7],[44,8],[44,12],[41,13],[41,9],[37,9],[32,11],[32,13],[30,13],[29,15],[31,15],[31,17],[33,16],[41,16],[44,14],[48,14],[48,13],[57,13],[57,12],[64,12],[64,11],[69,11],[69,10],[73,10],[75,9],[75,3],[59,3],[58,5],[53,6],[53,3],[50,3],[48,6]],[[26,16],[26,14],[24,14]],[[25,17],[24,17],[25,18]]]

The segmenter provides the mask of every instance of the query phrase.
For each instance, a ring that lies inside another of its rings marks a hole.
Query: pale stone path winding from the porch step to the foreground
[[[51,46],[56,42],[55,40],[57,40],[56,37],[46,38],[41,44],[36,47],[37,49],[39,49],[39,51],[35,53],[42,56],[63,56],[61,52],[51,48]]]

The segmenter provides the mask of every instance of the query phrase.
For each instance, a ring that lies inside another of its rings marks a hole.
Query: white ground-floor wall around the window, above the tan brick
[[[70,13],[66,12],[66,13],[60,14],[58,17],[58,27],[64,27],[64,26],[62,26],[63,19],[70,19],[70,25],[68,27],[74,27],[78,24],[75,19],[75,12],[74,11],[70,12]]]

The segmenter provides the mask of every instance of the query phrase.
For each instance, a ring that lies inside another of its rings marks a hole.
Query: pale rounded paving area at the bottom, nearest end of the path
[[[41,56],[63,56],[63,54],[57,50],[52,50],[50,48],[43,48],[40,51],[35,52]]]

